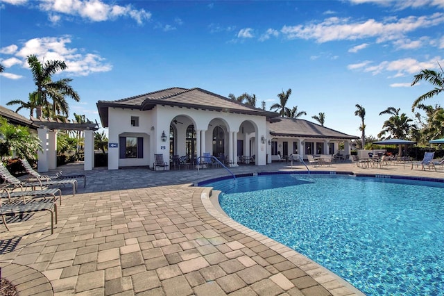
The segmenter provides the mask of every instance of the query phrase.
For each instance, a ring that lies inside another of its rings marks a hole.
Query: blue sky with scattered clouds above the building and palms
[[[421,69],[444,65],[444,0],[104,1],[0,0],[0,104],[35,90],[26,56],[64,60],[80,102],[73,113],[99,120],[96,101],[164,88],[255,94],[325,113],[325,126],[376,136],[389,106],[432,89],[411,87]],[[441,104],[435,97],[427,104]],[[10,106],[15,110],[17,106]],[[26,111],[20,112],[28,115]]]

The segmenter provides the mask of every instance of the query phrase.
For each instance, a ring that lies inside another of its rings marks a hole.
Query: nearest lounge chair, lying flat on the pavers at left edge
[[[9,230],[6,223],[6,215],[17,215],[23,217],[24,213],[33,213],[40,211],[49,211],[51,213],[51,234],[54,233],[54,214],[56,214],[57,224],[57,203],[52,199],[33,199],[29,202],[22,202],[16,199],[13,202],[3,203],[0,198],[0,215],[6,229]]]

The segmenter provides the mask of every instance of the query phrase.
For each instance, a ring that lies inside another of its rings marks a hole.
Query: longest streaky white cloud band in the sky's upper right
[[[349,18],[330,17],[318,24],[284,26],[281,33],[286,35],[288,39],[314,39],[319,43],[364,38],[377,38],[377,42],[384,42],[402,38],[405,33],[418,28],[429,28],[443,23],[443,13],[402,19],[385,19],[383,22],[377,22],[375,19],[368,19],[365,22],[350,22]]]

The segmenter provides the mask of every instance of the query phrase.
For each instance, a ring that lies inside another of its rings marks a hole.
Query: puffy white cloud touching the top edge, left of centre
[[[80,16],[91,22],[104,22],[118,17],[130,17],[137,24],[151,19],[151,13],[137,10],[131,4],[126,6],[110,5],[102,0],[41,0],[40,10],[49,13],[51,22],[60,20],[62,15]]]

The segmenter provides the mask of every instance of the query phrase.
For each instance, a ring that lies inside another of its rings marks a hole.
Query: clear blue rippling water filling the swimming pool
[[[233,220],[367,295],[444,295],[444,184],[271,174],[216,181]]]

